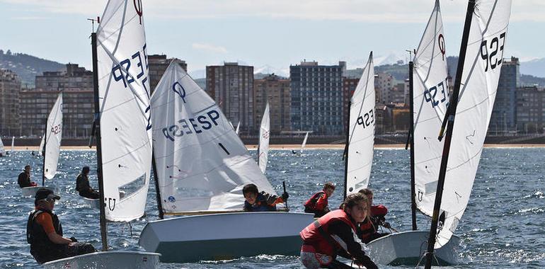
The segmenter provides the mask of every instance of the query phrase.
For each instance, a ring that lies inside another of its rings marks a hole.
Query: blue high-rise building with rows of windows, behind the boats
[[[292,131],[313,131],[316,135],[342,135],[343,62],[319,65],[301,62],[289,67],[292,88]]]

